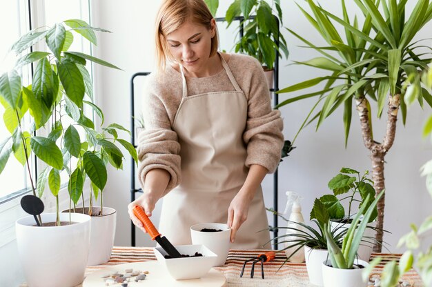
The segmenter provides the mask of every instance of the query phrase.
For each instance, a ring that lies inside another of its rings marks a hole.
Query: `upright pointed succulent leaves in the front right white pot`
[[[353,268],[355,257],[357,257],[357,250],[362,242],[364,230],[366,230],[369,218],[372,216],[374,208],[382,195],[384,195],[384,191],[377,195],[370,206],[363,205],[360,208],[360,211],[357,212],[357,215],[355,215],[353,219],[353,223],[344,235],[342,248],[338,246],[337,241],[334,241],[331,236],[329,236],[330,233],[328,231],[328,226],[324,227],[324,233],[327,239],[328,257],[330,258],[333,268]],[[371,195],[368,195],[366,200],[369,200],[370,198]],[[364,215],[363,219],[360,218],[362,215]]]

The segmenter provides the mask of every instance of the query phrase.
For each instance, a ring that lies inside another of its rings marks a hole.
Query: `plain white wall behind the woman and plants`
[[[228,2],[221,0],[218,16],[224,16]],[[354,4],[346,1],[348,9]],[[130,77],[139,71],[153,69],[153,27],[155,14],[160,0],[95,0],[93,4],[92,25],[111,30],[113,34],[100,34],[99,48],[95,55],[114,63],[124,70],[110,70],[97,67],[95,79],[99,90],[99,103],[106,115],[106,123],[112,121],[126,127],[130,126]],[[409,6],[415,1],[410,0]],[[339,1],[322,1],[324,8],[340,15]],[[317,46],[320,42],[317,33],[295,6],[294,1],[282,1],[284,12],[284,24],[295,30],[298,34],[310,39]],[[353,16],[352,16],[353,17]],[[222,26],[224,27],[224,26]],[[420,38],[430,38],[431,26],[425,28]],[[279,87],[284,88],[293,83],[319,77],[320,71],[302,66],[287,66],[292,60],[306,60],[317,57],[311,49],[299,48],[302,45],[295,37],[283,31],[288,41],[290,50],[289,61],[284,59],[280,64]],[[220,37],[230,37],[224,29],[219,30]],[[419,39],[420,39],[419,38]],[[223,41],[222,41],[223,42]],[[425,42],[430,45],[430,41]],[[223,47],[229,50],[230,46]],[[139,86],[139,85],[137,85]],[[297,94],[300,95],[300,94]],[[291,95],[293,96],[293,95]],[[286,99],[281,95],[279,99]],[[293,139],[297,129],[306,117],[312,101],[302,101],[281,109],[284,117],[284,135],[286,139]],[[373,106],[373,115],[376,114]],[[397,121],[396,139],[393,148],[386,156],[386,210],[384,228],[392,234],[384,235],[384,241],[390,244],[391,251],[395,248],[398,238],[409,231],[411,222],[419,224],[422,218],[429,214],[431,199],[427,195],[424,178],[420,178],[419,168],[431,158],[432,144],[429,140],[421,139],[422,126],[425,119],[431,113],[430,108],[421,110],[414,104],[409,109],[407,123],[404,127],[402,120]],[[315,132],[314,126],[309,126],[302,131],[295,141],[295,150],[279,166],[279,210],[284,210],[286,202],[285,191],[295,190],[304,196],[303,213],[308,218],[313,199],[328,193],[328,180],[331,179],[342,167],[351,167],[357,170],[371,169],[369,152],[364,148],[359,128],[359,120],[353,110],[351,123],[351,135],[348,140],[348,148],[344,148],[342,110],[331,115],[320,130]],[[384,133],[384,122],[374,126],[375,138],[381,141]],[[130,221],[126,206],[130,201],[129,176],[130,164],[124,166],[124,170],[109,170],[108,184],[104,195],[107,206],[117,209],[117,235],[115,244],[127,246],[130,244]],[[273,177],[266,177],[263,183],[266,206],[273,206]],[[157,213],[157,212],[156,212]],[[157,215],[153,218],[157,223]],[[272,221],[270,221],[272,223]],[[137,237],[137,245],[149,246],[151,243],[142,235]]]

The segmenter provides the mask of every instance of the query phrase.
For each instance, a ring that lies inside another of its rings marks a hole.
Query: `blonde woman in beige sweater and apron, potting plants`
[[[144,193],[128,206],[150,216],[164,197],[159,232],[190,244],[190,226],[227,223],[233,248],[268,248],[261,182],[279,163],[282,119],[271,109],[258,61],[217,52],[202,0],[166,0],[157,16],[157,74],[149,76],[139,135]],[[145,231],[145,230],[144,230]]]

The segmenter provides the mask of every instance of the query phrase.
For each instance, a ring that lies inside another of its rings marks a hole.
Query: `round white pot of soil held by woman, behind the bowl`
[[[218,232],[203,232],[203,228],[222,230]],[[226,224],[206,223],[190,226],[190,237],[192,244],[202,244],[217,255],[213,266],[225,264],[230,249],[231,229]]]

